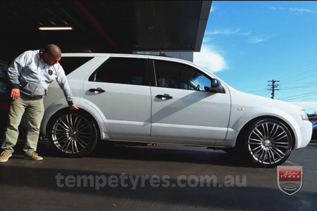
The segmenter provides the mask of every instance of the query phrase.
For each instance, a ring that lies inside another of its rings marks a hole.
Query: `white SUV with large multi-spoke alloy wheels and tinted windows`
[[[220,148],[275,167],[311,139],[303,108],[232,89],[186,60],[63,53],[60,63],[80,110],[69,110],[52,83],[41,133],[65,155],[86,155],[99,140],[177,143]]]

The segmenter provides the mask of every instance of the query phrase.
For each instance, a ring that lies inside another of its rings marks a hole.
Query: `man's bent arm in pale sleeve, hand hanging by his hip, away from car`
[[[20,56],[15,58],[8,68],[8,81],[12,84],[11,98],[17,99],[20,97],[19,77],[27,61],[30,60],[29,51],[25,51]]]

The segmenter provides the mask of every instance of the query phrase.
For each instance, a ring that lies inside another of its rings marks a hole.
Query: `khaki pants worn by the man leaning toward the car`
[[[39,139],[39,127],[41,126],[44,115],[43,99],[31,99],[27,96],[20,96],[11,102],[8,110],[8,123],[6,134],[1,148],[9,153],[13,153],[13,147],[18,141],[18,126],[21,122],[23,113],[27,118],[27,137],[23,151],[26,154],[37,151],[37,141]]]

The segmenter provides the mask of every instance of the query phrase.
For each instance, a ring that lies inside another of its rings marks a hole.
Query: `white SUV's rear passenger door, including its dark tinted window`
[[[111,135],[148,136],[151,129],[151,93],[145,77],[147,58],[108,58],[83,86],[83,99],[106,118]]]

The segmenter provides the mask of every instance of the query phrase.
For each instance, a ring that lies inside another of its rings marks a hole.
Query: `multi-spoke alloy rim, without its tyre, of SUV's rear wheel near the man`
[[[61,152],[76,154],[89,146],[93,131],[92,124],[85,117],[68,113],[54,122],[51,140]]]

